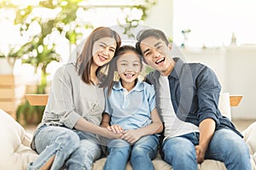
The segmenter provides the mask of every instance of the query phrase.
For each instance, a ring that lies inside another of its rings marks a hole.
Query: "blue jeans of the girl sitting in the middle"
[[[154,170],[151,160],[156,156],[158,146],[159,138],[156,135],[144,136],[133,146],[122,139],[108,140],[109,155],[104,170],[125,170],[130,154],[132,169]]]

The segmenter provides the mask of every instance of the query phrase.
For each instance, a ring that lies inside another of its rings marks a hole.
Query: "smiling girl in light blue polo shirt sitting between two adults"
[[[159,138],[163,130],[155,108],[154,87],[140,82],[142,58],[136,48],[123,46],[113,59],[119,82],[106,88],[106,109],[102,115],[102,127],[121,134],[121,139],[108,140],[108,157],[104,169],[125,170],[131,155],[135,170],[154,169],[152,159],[157,154]],[[112,72],[113,73],[113,72]]]

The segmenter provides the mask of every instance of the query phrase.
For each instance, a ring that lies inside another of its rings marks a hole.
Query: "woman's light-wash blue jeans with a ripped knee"
[[[52,156],[55,156],[55,160],[51,170],[59,170],[63,166],[72,170],[90,170],[92,162],[102,154],[93,134],[67,127],[39,127],[35,134],[35,147],[39,156],[28,165],[28,170],[40,169]]]

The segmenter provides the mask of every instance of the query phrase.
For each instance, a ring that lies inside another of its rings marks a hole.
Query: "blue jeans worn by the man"
[[[199,133],[166,139],[162,146],[163,159],[176,169],[196,169],[195,145]],[[205,159],[223,161],[228,170],[251,170],[247,144],[230,129],[219,129],[208,146]]]

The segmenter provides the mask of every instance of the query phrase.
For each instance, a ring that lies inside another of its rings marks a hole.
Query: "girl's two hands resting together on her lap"
[[[123,127],[119,125],[112,125],[107,127],[109,131],[115,134],[119,134],[119,139],[123,139],[130,144],[134,144],[138,139],[142,137],[137,129],[124,130]]]

